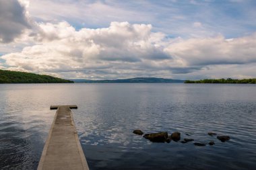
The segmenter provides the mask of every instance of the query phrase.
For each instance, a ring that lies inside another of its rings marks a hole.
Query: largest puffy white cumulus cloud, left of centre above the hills
[[[170,60],[163,34],[152,26],[112,22],[108,28],[76,31],[67,22],[38,24],[36,44],[1,56],[12,69],[32,72],[118,74],[139,68],[142,60]],[[139,63],[136,63],[139,62]],[[127,69],[117,67],[124,65]]]

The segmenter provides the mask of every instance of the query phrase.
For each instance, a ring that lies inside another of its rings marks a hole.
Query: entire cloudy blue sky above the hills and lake
[[[0,0],[0,69],[64,79],[256,77],[254,0]]]

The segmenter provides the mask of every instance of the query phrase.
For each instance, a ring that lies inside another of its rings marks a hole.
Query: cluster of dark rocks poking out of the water
[[[141,130],[137,129],[137,130],[133,130],[134,134],[138,134],[138,135],[143,135],[144,132],[142,132]],[[208,135],[210,136],[216,136],[217,134],[214,132],[208,132]],[[173,132],[172,134],[168,135],[168,132],[158,132],[158,133],[150,133],[150,134],[144,134],[143,135],[144,138],[152,141],[152,142],[170,142],[171,140],[174,140],[175,142],[178,142],[179,140],[181,140],[181,133],[180,132]],[[222,142],[226,142],[226,140],[230,140],[230,136],[217,136],[218,140],[222,141]],[[194,141],[193,138],[184,138],[181,143],[187,143],[187,142],[192,142]],[[201,142],[194,142],[193,144],[195,144],[195,146],[205,146],[205,143],[201,143]],[[213,140],[211,140],[209,143],[209,145],[214,145],[215,142]]]

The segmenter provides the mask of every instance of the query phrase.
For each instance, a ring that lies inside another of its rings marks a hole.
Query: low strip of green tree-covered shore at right
[[[226,84],[256,84],[256,79],[203,79],[186,80],[184,83],[226,83]]]

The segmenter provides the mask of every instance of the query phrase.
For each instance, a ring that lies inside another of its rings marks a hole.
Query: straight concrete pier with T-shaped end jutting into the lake
[[[77,109],[77,106],[51,106],[51,110],[57,109],[57,112],[44,144],[38,170],[89,169],[77,136],[71,108]]]

